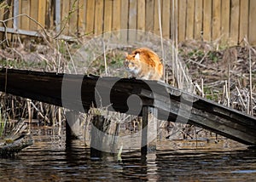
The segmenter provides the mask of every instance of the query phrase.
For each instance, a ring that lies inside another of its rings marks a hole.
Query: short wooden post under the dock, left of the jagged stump
[[[78,139],[79,137],[79,112],[67,111],[66,112],[66,140]]]

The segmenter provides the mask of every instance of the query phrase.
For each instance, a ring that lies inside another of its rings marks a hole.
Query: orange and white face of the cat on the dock
[[[139,54],[127,54],[124,62],[125,69],[132,74],[137,74],[141,69]]]

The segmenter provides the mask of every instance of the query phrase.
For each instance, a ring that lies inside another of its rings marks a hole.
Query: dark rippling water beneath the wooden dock
[[[62,128],[32,128],[34,145],[14,158],[0,158],[0,181],[255,181],[256,151],[243,145],[177,149],[165,141],[142,160],[139,151],[90,158],[81,140],[66,146]],[[176,145],[174,145],[176,144]],[[224,146],[224,145],[221,145]],[[170,148],[167,150],[167,148]]]

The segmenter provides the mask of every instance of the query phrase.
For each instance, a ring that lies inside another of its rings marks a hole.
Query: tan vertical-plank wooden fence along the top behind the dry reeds
[[[27,14],[47,29],[65,28],[63,33],[70,36],[119,29],[160,34],[161,22],[163,36],[177,35],[179,42],[221,39],[222,43],[237,44],[247,37],[249,43],[256,44],[255,0],[13,0],[10,9],[15,2],[18,10],[10,11],[9,17],[14,12]],[[0,9],[1,20],[6,12]],[[13,27],[13,21],[8,26]],[[41,29],[26,16],[17,20],[17,26]]]

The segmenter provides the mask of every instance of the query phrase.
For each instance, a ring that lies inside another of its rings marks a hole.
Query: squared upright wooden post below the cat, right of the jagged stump
[[[156,151],[157,142],[157,109],[143,106],[142,156]]]

